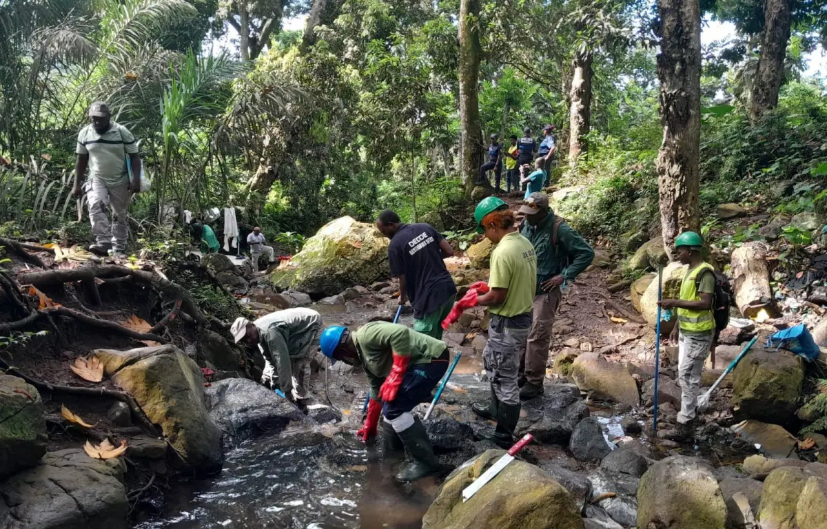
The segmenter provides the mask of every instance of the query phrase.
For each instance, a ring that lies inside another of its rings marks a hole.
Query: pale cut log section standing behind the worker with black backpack
[[[732,252],[732,289],[743,317],[754,318],[761,309],[772,310],[767,245],[745,242]]]

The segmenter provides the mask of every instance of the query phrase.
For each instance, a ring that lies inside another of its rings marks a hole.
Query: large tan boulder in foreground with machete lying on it
[[[470,485],[504,450],[487,450],[448,477],[423,517],[423,529],[583,529],[575,500],[542,469],[515,460],[470,500]]]

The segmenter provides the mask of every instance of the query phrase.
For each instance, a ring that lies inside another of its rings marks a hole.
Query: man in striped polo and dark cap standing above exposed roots
[[[89,119],[78,134],[74,164],[74,186],[77,196],[86,193],[86,206],[95,242],[88,250],[96,255],[124,255],[129,238],[127,214],[132,193],[141,192],[141,157],[135,136],[127,127],[112,121],[112,112],[105,102],[93,102],[89,107]],[[131,165],[129,179],[127,160]],[[84,183],[86,169],[89,182]],[[112,224],[109,223],[107,204],[112,207]]]

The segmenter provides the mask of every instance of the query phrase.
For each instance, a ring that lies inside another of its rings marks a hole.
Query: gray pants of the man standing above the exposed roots
[[[100,179],[89,179],[86,186],[86,205],[89,209],[89,220],[92,222],[92,233],[98,245],[112,244],[112,250],[127,249],[129,238],[129,182],[105,183]],[[107,204],[112,207],[112,223],[109,223]]]

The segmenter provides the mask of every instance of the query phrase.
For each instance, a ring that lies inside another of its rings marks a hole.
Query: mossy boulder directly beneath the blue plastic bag
[[[796,417],[803,383],[800,356],[753,348],[733,370],[732,403],[744,417],[786,424]]]

